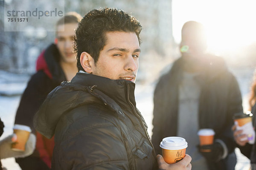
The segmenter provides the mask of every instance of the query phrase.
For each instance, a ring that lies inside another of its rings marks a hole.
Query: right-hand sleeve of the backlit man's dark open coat
[[[233,125],[233,115],[235,113],[243,112],[241,92],[239,89],[238,82],[233,75],[231,75],[230,77],[230,83],[229,83],[228,89],[229,89],[229,92],[228,92],[228,98],[227,98],[227,117],[226,117],[227,123],[221,135],[219,136],[219,139],[221,139],[226,145],[227,153],[231,153],[236,147],[233,139],[233,132],[231,130],[231,127]]]

